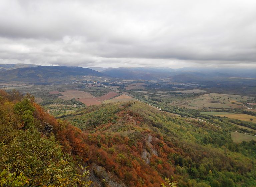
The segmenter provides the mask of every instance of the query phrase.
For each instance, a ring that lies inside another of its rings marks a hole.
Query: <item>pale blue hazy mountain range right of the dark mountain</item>
[[[96,68],[94,68],[96,69]],[[193,68],[180,69],[159,68],[159,67],[120,67],[104,68],[102,73],[121,79],[142,79],[142,80],[170,80],[170,81],[197,81],[197,80],[219,80],[227,77],[256,78],[256,69],[235,69],[235,68]]]

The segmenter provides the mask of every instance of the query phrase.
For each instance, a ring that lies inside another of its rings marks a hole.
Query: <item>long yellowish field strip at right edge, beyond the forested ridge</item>
[[[214,116],[220,116],[220,117],[228,117],[231,119],[239,119],[242,121],[251,121],[250,119],[253,119],[252,122],[256,121],[255,116],[251,116],[248,114],[236,114],[236,113],[231,113],[231,112],[201,112],[200,114],[207,114],[207,115],[214,115]]]

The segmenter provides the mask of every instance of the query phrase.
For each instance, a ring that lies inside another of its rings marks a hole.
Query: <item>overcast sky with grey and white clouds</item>
[[[255,0],[1,0],[0,63],[256,67]]]

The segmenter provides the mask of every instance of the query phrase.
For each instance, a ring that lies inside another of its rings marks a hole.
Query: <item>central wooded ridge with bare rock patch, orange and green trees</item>
[[[64,119],[86,134],[90,162],[127,186],[160,186],[164,177],[180,187],[256,185],[256,142],[234,143],[227,124],[217,128],[141,102],[91,106]]]

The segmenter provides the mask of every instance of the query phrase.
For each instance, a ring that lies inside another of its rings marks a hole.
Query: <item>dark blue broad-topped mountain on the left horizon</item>
[[[71,79],[81,76],[107,77],[103,73],[89,68],[67,66],[37,66],[30,68],[18,68],[0,73],[0,81],[23,82],[70,82]]]

